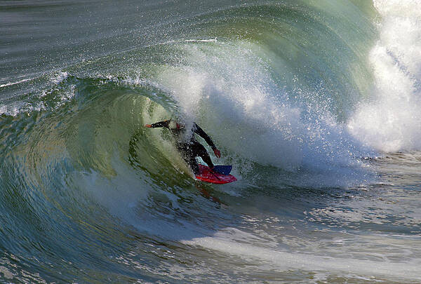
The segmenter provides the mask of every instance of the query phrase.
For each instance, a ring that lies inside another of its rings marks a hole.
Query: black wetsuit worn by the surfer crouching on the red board
[[[202,144],[197,142],[196,138],[194,137],[194,133],[198,134],[200,137],[202,137],[209,146],[215,150],[215,144],[213,144],[210,137],[201,129],[196,123],[193,123],[192,127],[192,137],[189,139],[183,139],[182,135],[186,134],[186,130],[184,127],[180,128],[173,128],[170,127],[170,121],[160,121],[157,123],[153,123],[151,125],[152,128],[159,128],[164,127],[168,128],[171,133],[174,135],[176,139],[176,146],[178,151],[182,154],[182,158],[185,159],[185,161],[189,164],[190,168],[192,168],[193,173],[195,175],[199,174],[199,165],[197,164],[196,157],[201,157],[205,163],[208,164],[209,168],[213,168],[212,160],[210,159],[210,156],[208,154],[208,151],[206,151],[205,147],[203,147]],[[179,125],[180,126],[180,125]]]

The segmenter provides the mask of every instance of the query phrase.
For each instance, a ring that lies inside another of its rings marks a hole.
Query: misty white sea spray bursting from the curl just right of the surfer
[[[171,90],[185,117],[206,126],[243,173],[253,172],[255,163],[300,170],[312,186],[347,187],[368,178],[358,159],[373,152],[330,112],[335,99],[323,100],[330,95],[323,88],[301,90],[291,99],[271,78],[262,58],[265,46],[222,40],[173,44],[185,58],[159,72],[161,88]],[[270,60],[283,62],[275,55]]]

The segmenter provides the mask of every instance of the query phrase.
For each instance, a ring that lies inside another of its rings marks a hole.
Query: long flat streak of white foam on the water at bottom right
[[[319,271],[321,273],[352,273],[357,276],[388,276],[396,278],[419,279],[420,263],[375,262],[359,259],[345,259],[338,257],[323,257],[276,250],[263,245],[251,245],[244,241],[233,241],[232,228],[218,231],[214,236],[193,238],[183,241],[187,245],[201,246],[210,250],[217,250],[228,255],[235,255],[246,261],[259,263],[263,269],[269,266],[276,271],[300,269],[305,271]],[[235,238],[239,234],[236,231]],[[247,235],[245,237],[248,237]],[[250,241],[250,240],[249,240]]]

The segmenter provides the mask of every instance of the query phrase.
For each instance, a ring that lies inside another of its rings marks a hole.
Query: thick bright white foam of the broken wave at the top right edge
[[[421,1],[375,0],[380,39],[370,52],[375,97],[349,120],[349,132],[380,151],[421,149]]]

